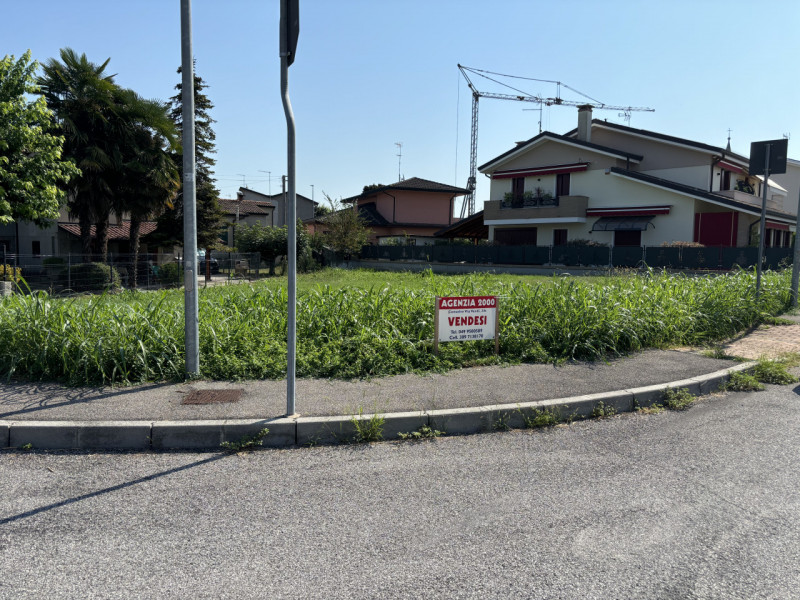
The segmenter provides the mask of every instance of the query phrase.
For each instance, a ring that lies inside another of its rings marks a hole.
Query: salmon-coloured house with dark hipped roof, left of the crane
[[[453,216],[455,199],[467,193],[463,188],[412,177],[367,187],[342,202],[358,208],[372,230],[371,243],[397,240],[421,245],[432,244],[437,231],[458,221]]]

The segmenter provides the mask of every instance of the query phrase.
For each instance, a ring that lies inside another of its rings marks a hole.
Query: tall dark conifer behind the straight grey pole
[[[178,68],[178,73],[182,70]],[[210,250],[217,247],[220,230],[224,227],[225,213],[219,204],[219,190],[214,184],[212,168],[216,164],[216,134],[210,110],[213,103],[203,90],[208,85],[197,75],[194,77],[194,138],[195,138],[195,213],[197,218],[197,247]],[[175,86],[178,93],[170,98],[170,117],[175,123],[183,144],[182,84]],[[176,157],[180,181],[183,182],[183,154]],[[183,191],[179,191],[173,208],[158,218],[156,231],[148,239],[160,243],[183,244]]]

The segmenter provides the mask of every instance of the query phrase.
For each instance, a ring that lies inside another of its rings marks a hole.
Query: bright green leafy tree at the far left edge
[[[64,138],[51,133],[53,114],[35,84],[38,66],[30,50],[0,60],[0,223],[58,219],[60,186],[80,174],[62,158]]]

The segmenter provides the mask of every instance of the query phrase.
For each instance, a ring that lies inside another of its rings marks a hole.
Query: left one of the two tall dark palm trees
[[[63,48],[60,56],[61,61],[51,58],[44,65],[38,84],[65,138],[64,156],[81,170],[68,190],[67,206],[78,218],[84,254],[90,255],[91,226],[108,222],[113,195],[118,148],[112,125],[119,88],[105,72],[110,59],[97,65],[71,48]]]

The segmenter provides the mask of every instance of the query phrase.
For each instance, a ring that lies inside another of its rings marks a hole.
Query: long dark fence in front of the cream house
[[[793,248],[765,248],[764,267],[790,264]],[[705,246],[364,246],[364,260],[439,263],[547,265],[565,267],[642,267],[730,270],[754,267],[758,248]]]

